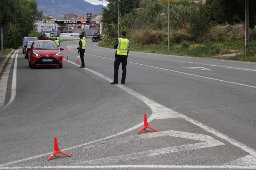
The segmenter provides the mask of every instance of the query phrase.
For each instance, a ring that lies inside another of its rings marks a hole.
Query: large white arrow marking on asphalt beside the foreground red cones
[[[160,148],[160,149],[156,149],[156,150],[148,150],[148,151],[137,152],[137,153],[132,153],[132,154],[117,155],[117,156],[111,156],[111,157],[106,157],[106,158],[101,158],[101,159],[93,159],[93,160],[89,160],[89,161],[80,161],[77,163],[78,164],[93,164],[93,165],[120,163],[122,161],[139,159],[139,158],[146,157],[146,156],[155,156],[155,155],[160,155],[160,154],[168,154],[171,152],[181,152],[181,151],[186,151],[186,150],[195,150],[195,149],[202,149],[202,148],[206,148],[206,147],[214,147],[214,146],[224,145],[224,143],[214,139],[211,136],[183,132],[183,131],[172,131],[172,130],[160,131],[160,132],[155,132],[155,133],[150,133],[150,134],[143,134],[141,136],[136,136],[136,137],[138,138],[137,140],[141,140],[141,139],[155,138],[155,137],[160,137],[160,136],[173,136],[173,137],[178,137],[178,138],[186,138],[186,139],[192,139],[192,140],[204,141],[204,142],[192,143],[192,144],[188,144],[188,145],[180,145],[180,146],[174,146],[174,147],[165,147],[165,148]],[[132,136],[132,137],[135,137],[135,136]]]

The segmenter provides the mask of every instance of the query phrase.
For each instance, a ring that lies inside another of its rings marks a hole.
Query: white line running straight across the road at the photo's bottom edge
[[[94,169],[94,168],[180,168],[180,169],[256,169],[256,166],[234,166],[234,165],[96,165],[96,166],[20,166],[2,167],[0,170],[18,169]]]

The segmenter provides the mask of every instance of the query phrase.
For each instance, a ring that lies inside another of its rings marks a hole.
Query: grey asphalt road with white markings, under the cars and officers
[[[87,39],[81,69],[77,43],[61,43],[62,69],[19,51],[0,169],[256,169],[256,63],[130,52],[126,84],[110,85],[114,49]],[[137,134],[144,113],[158,132]],[[70,158],[47,161],[54,135]]]

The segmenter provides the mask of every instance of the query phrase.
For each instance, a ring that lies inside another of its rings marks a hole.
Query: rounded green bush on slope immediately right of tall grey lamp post
[[[180,43],[181,41],[188,41],[191,39],[191,34],[186,29],[181,29],[171,32],[170,41],[173,43]]]

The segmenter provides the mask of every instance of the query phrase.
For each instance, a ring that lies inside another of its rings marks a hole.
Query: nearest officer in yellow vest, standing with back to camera
[[[130,45],[130,41],[126,39],[126,32],[121,32],[121,38],[118,38],[114,43],[114,49],[117,49],[115,53],[115,61],[114,61],[114,81],[110,84],[118,84],[118,70],[119,65],[122,63],[122,80],[121,84],[125,84],[126,79],[126,65],[127,65],[127,57],[128,57],[128,48]]]

